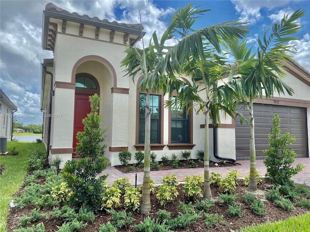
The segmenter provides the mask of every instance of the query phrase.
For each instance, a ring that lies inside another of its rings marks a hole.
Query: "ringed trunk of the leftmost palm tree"
[[[146,91],[145,100],[145,138],[144,138],[144,172],[142,185],[142,203],[140,204],[140,213],[146,214],[151,212],[150,199],[150,170],[151,170],[151,112],[150,112],[150,92]]]

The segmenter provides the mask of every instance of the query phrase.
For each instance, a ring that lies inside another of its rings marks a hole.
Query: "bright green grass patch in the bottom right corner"
[[[259,226],[245,227],[239,232],[310,232],[310,213],[297,217],[290,217],[286,220],[267,222]]]

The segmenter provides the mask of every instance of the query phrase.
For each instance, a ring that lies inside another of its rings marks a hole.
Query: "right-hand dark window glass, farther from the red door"
[[[175,97],[171,98],[174,100]],[[189,143],[189,115],[187,106],[183,110],[180,105],[171,106],[171,143]]]

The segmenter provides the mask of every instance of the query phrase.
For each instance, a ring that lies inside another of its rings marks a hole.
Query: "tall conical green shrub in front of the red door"
[[[105,158],[107,145],[102,145],[105,140],[103,134],[108,129],[100,127],[102,116],[99,114],[99,96],[94,94],[89,97],[89,101],[91,113],[82,120],[84,131],[77,133],[76,154],[81,159],[68,160],[62,172],[68,187],[73,191],[70,204],[78,208],[87,206],[96,211],[100,209],[103,186],[108,176],[98,177],[109,164],[109,160]]]

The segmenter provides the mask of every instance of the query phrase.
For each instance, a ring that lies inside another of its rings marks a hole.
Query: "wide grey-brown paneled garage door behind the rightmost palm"
[[[272,128],[272,117],[278,114],[281,118],[281,133],[290,132],[295,136],[295,143],[291,148],[296,152],[296,157],[308,157],[307,149],[307,116],[306,108],[254,104],[255,122],[255,147],[257,159],[264,159],[264,149],[268,149],[268,133]],[[239,111],[248,118],[248,110],[241,108]],[[241,126],[239,118],[235,121],[236,159],[249,160],[249,128],[247,123]]]

